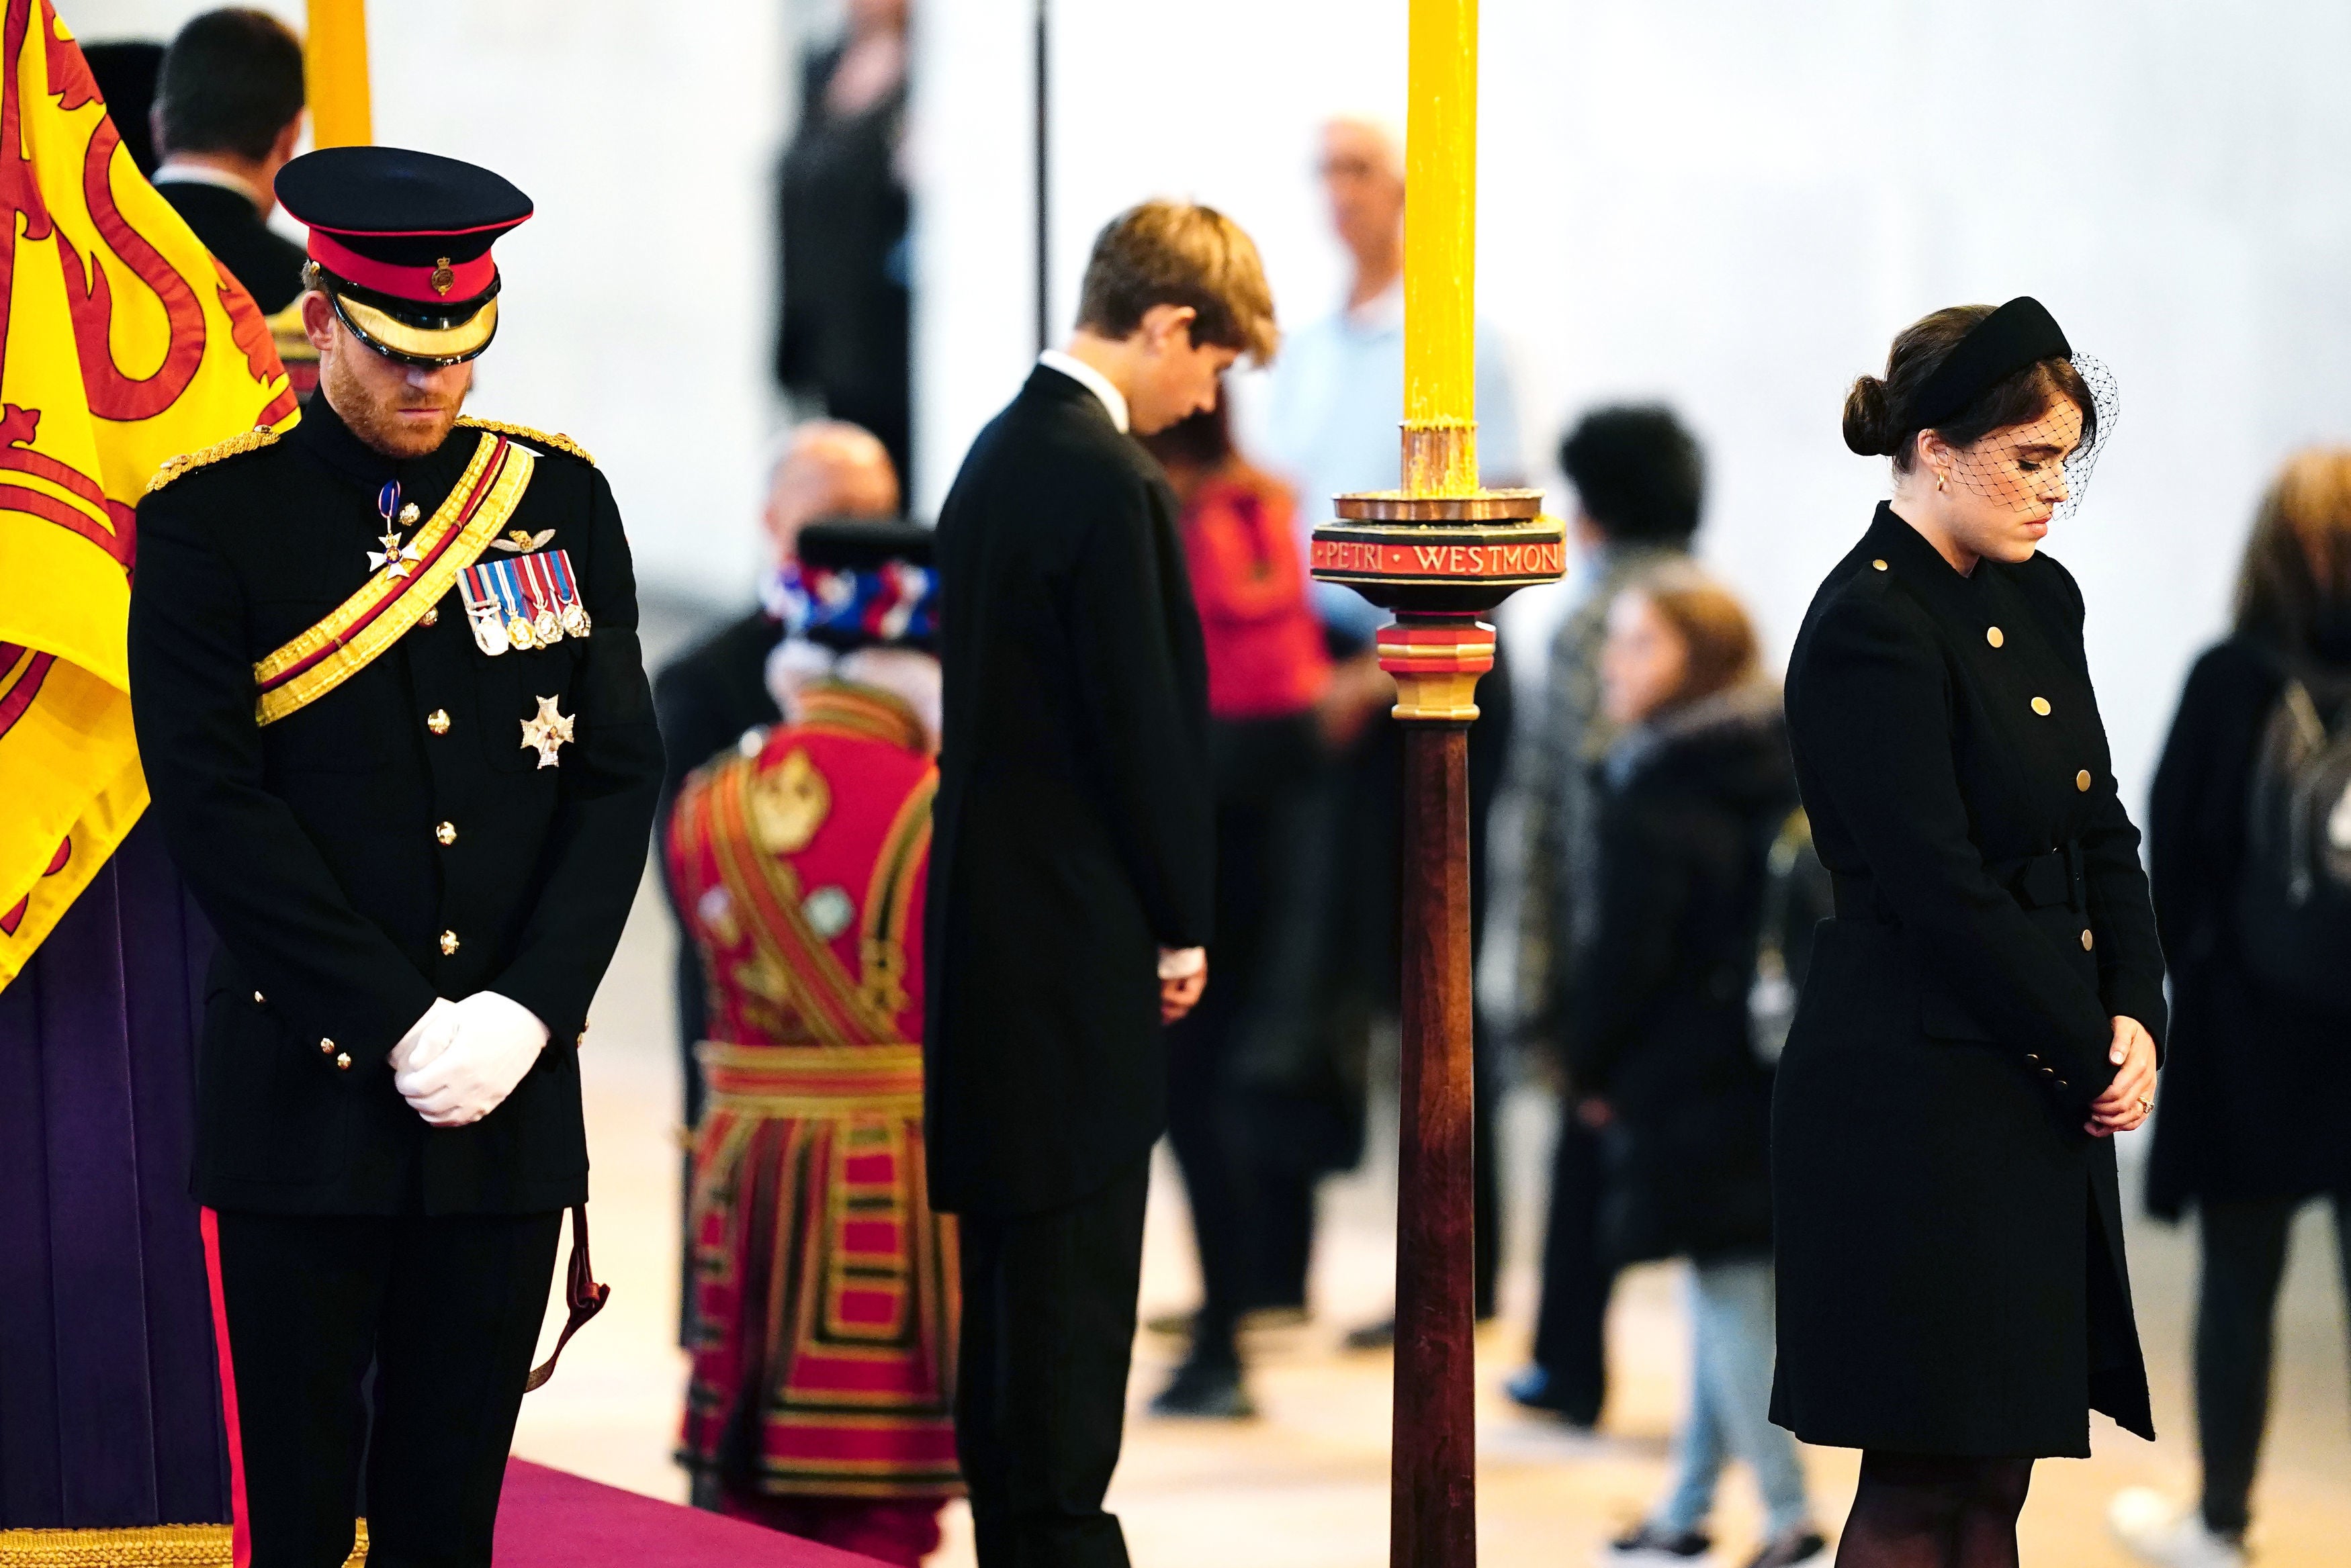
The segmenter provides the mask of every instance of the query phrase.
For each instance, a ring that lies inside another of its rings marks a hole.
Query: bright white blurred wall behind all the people
[[[188,0],[61,0],[85,38]],[[301,21],[301,5],[270,0]],[[513,176],[477,409],[581,437],[654,588],[738,599],[778,421],[769,174],[788,35],[830,0],[400,0],[369,16],[379,139]],[[1404,0],[1056,0],[1053,277],[1152,193],[1258,235],[1291,322],[1340,256],[1333,108],[1399,113]],[[820,26],[820,21],[816,24]],[[2144,785],[2224,618],[2276,461],[2351,437],[2351,9],[2276,0],[1486,0],[1479,306],[1531,458],[1613,397],[1707,440],[1704,550],[1784,649],[1883,475],[1843,386],[1954,301],[2038,294],[2123,418],[2055,538],[2090,592],[2116,755]],[[917,505],[1032,348],[1030,0],[917,14]],[[1540,607],[1526,607],[1540,618]]]

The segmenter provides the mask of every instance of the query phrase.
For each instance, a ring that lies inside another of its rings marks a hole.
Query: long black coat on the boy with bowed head
[[[1041,367],[938,515],[938,1208],[1072,1204],[1166,1126],[1157,954],[1208,940],[1215,858],[1208,665],[1176,515],[1150,454]]]

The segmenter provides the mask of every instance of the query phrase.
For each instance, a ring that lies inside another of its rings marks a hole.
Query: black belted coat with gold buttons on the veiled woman
[[[1881,505],[1789,661],[1836,875],[1773,1105],[1780,1373],[1813,1443],[2085,1455],[2151,1436],[2111,1016],[2163,1039],[2163,952],[2055,559],[1970,576]]]

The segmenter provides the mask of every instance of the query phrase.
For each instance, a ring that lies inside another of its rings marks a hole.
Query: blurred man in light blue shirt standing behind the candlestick
[[[1298,510],[1298,548],[1307,550],[1314,527],[1331,517],[1331,496],[1394,489],[1401,482],[1396,433],[1404,421],[1404,136],[1378,115],[1338,115],[1324,125],[1324,195],[1331,228],[1347,249],[1347,299],[1338,313],[1293,334],[1274,367],[1260,428],[1253,433],[1267,465],[1305,498]],[[1500,336],[1476,331],[1479,463],[1486,484],[1519,484],[1519,409]],[[1364,1140],[1364,1081],[1375,1020],[1396,1016],[1396,769],[1399,738],[1387,710],[1396,684],[1380,670],[1373,639],[1389,621],[1352,588],[1312,583],[1312,604],[1324,623],[1338,665],[1324,698],[1324,736],[1338,752],[1338,771],[1326,788],[1324,931],[1319,936],[1326,994],[1317,1004],[1324,1074],[1354,1100],[1354,1114],[1321,1168],[1345,1168]],[[1486,910],[1486,816],[1500,788],[1509,752],[1509,670],[1495,651],[1495,670],[1479,682],[1483,715],[1469,729],[1472,790],[1472,924],[1483,931]],[[1364,849],[1368,853],[1357,853]],[[1476,1074],[1476,1302],[1479,1319],[1493,1316],[1500,1267],[1500,1180],[1495,1166],[1493,1105],[1500,1079],[1479,1027]],[[1277,1274],[1260,1281],[1270,1307],[1302,1307],[1312,1251],[1312,1211],[1300,1220]],[[1387,1345],[1394,1324],[1371,1324],[1349,1342]]]

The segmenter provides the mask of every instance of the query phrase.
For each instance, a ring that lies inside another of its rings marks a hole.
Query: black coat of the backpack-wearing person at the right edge
[[[2351,637],[2332,663],[2351,670]],[[2351,1103],[2351,1018],[2280,997],[2245,961],[2236,924],[2255,748],[2288,663],[2231,637],[2179,693],[2146,806],[2146,872],[2172,961],[2172,1039],[2146,1157],[2146,1206],[2351,1192],[2351,1138],[2313,1105]],[[2337,717],[2339,722],[2339,717]]]

